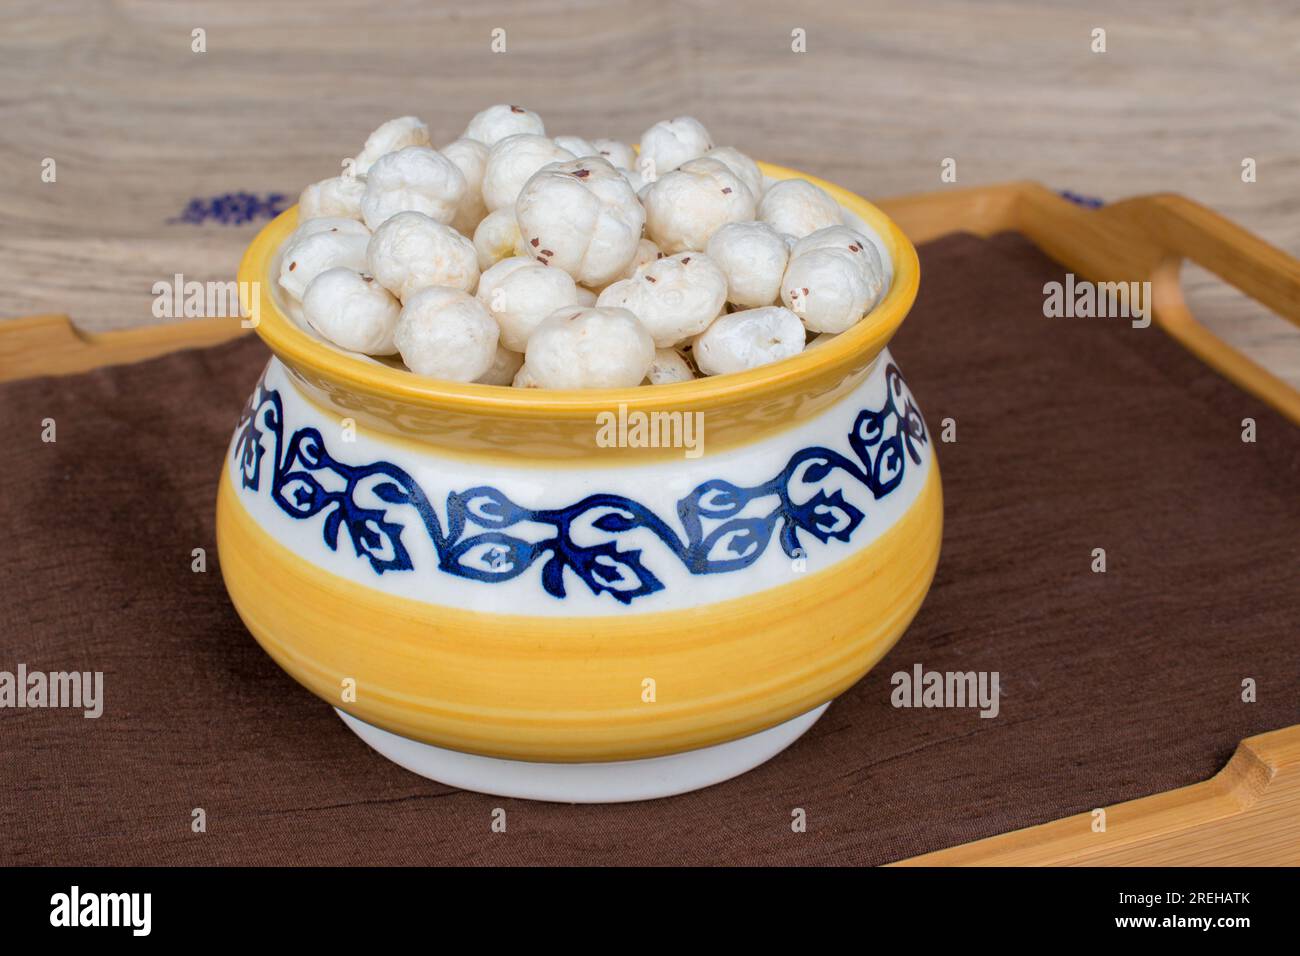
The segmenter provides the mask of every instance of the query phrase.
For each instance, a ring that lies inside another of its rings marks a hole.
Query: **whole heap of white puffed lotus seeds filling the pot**
[[[347,174],[303,190],[282,304],[343,349],[398,350],[456,381],[623,388],[754,368],[850,328],[887,282],[827,191],[766,182],[692,117],[651,126],[640,155],[550,139],[507,104],[438,151],[398,117]]]

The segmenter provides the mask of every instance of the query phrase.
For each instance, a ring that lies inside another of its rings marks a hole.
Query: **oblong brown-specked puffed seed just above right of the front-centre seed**
[[[727,303],[727,277],[703,252],[679,252],[656,259],[608,286],[599,307],[627,308],[654,338],[670,349],[708,328]]]

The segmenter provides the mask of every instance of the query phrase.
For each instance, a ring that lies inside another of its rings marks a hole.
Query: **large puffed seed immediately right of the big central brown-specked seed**
[[[646,234],[664,252],[702,250],[727,222],[754,219],[754,194],[724,164],[696,159],[659,177],[642,196]]]

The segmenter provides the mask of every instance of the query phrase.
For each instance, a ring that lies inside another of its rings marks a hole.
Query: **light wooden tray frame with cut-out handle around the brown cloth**
[[[1300,392],[1200,325],[1183,300],[1190,259],[1300,325],[1300,261],[1176,195],[1084,209],[1035,183],[945,190],[884,200],[915,243],[953,232],[1017,232],[1095,282],[1150,281],[1154,323],[1242,389],[1300,425]],[[244,334],[205,319],[88,334],[66,316],[0,321],[0,381],[70,375]],[[1297,865],[1300,724],[1247,737],[1212,779],[1092,814],[926,853],[901,865]]]

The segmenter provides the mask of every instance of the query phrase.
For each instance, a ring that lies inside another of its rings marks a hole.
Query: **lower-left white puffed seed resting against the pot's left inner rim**
[[[326,269],[307,286],[303,317],[334,345],[367,355],[396,351],[402,307],[389,290],[352,269]]]

